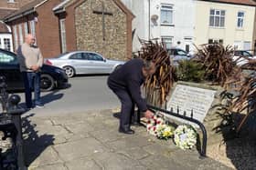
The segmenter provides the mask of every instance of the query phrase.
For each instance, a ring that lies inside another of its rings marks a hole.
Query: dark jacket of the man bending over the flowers
[[[112,72],[108,78],[109,87],[115,90],[123,90],[131,95],[135,104],[141,111],[146,111],[146,102],[141,96],[141,85],[144,83],[142,59],[135,58]]]

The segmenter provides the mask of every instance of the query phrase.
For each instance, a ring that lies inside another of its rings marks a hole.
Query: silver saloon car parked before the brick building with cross
[[[108,60],[102,55],[90,51],[73,51],[56,58],[45,59],[45,64],[63,68],[68,75],[110,74],[124,64],[124,61]]]

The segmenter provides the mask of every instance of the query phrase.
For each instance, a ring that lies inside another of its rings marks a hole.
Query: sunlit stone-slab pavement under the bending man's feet
[[[132,126],[134,135],[121,134],[118,116],[114,110],[23,115],[28,169],[230,169],[211,158],[200,159],[196,148],[184,151],[172,140],[156,139],[144,126]]]

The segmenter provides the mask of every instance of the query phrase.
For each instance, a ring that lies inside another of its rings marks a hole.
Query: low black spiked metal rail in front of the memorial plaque
[[[167,115],[173,115],[175,117],[178,117],[178,118],[181,118],[181,119],[184,119],[184,120],[187,120],[189,122],[192,122],[192,123],[195,123],[199,126],[199,128],[201,129],[202,131],[202,135],[203,135],[203,139],[202,139],[202,145],[200,147],[200,151],[199,151],[199,154],[200,154],[200,158],[204,158],[206,157],[206,152],[207,152],[207,142],[208,142],[208,135],[207,135],[207,130],[206,130],[206,127],[205,125],[203,125],[201,122],[199,122],[197,119],[194,119],[193,118],[193,110],[191,111],[191,114],[190,114],[190,117],[187,116],[187,113],[184,112],[183,115],[180,115],[179,114],[179,109],[177,108],[177,112],[174,113],[173,112],[173,109],[171,109],[171,111],[167,111],[165,109],[162,109],[162,108],[159,108],[159,107],[156,107],[154,105],[147,105],[149,109],[151,110],[155,110],[155,111],[160,111],[160,112],[163,112]],[[136,120],[137,120],[137,123],[140,124],[140,114],[138,113],[137,114],[137,117],[136,117]]]

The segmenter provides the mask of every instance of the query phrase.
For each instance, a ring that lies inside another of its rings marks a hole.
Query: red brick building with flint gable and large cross
[[[107,58],[132,55],[133,14],[120,0],[35,0],[5,17],[14,48],[36,35],[44,57],[89,50]]]

